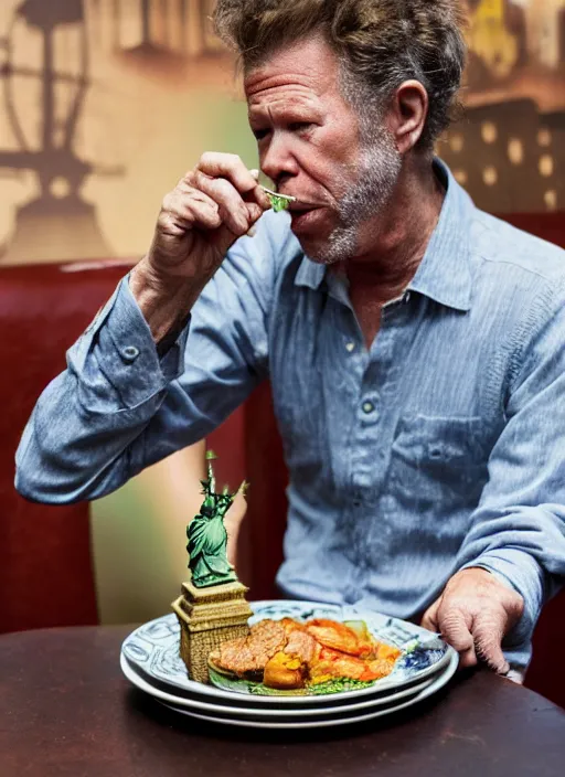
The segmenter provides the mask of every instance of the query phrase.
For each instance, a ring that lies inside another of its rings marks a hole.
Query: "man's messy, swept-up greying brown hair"
[[[429,98],[420,149],[429,150],[450,124],[466,61],[460,0],[217,0],[214,24],[244,72],[321,33],[341,63],[343,95],[361,117],[405,81],[419,81]]]

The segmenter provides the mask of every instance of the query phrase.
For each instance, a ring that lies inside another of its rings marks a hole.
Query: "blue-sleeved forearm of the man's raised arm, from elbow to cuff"
[[[172,453],[175,427],[154,437],[149,427],[181,374],[183,350],[159,359],[124,278],[35,406],[17,454],[18,491],[53,504],[95,499],[137,475],[148,457]]]

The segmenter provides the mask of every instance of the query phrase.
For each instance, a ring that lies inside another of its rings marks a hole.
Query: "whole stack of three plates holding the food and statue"
[[[454,675],[457,652],[437,635],[397,618],[356,607],[312,602],[257,602],[249,625],[266,618],[364,620],[379,641],[402,650],[393,672],[370,685],[324,695],[259,695],[256,684],[215,675],[217,685],[190,679],[179,654],[174,614],[136,629],[121,646],[120,663],[134,685],[183,715],[255,728],[319,728],[369,721],[404,710],[436,693]]]

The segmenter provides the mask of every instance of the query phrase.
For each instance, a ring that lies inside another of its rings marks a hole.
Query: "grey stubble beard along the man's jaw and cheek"
[[[391,134],[371,128],[356,170],[356,183],[338,203],[339,224],[319,249],[308,256],[319,264],[332,265],[352,259],[360,251],[360,228],[388,204],[402,168],[402,156]]]

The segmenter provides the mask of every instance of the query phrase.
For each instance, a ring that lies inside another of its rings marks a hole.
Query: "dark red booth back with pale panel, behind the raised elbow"
[[[204,443],[139,476],[137,490],[131,483],[93,504],[35,504],[13,488],[15,449],[39,395],[129,266],[0,269],[0,632],[157,617],[185,574],[184,528],[200,505]],[[239,411],[206,440],[220,456],[218,482],[233,488],[245,479],[243,435]],[[247,583],[248,539],[244,526],[237,566]]]

